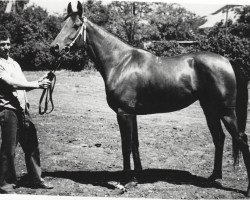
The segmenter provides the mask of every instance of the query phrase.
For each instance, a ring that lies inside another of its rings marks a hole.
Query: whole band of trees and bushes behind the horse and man
[[[64,15],[49,15],[39,6],[25,7],[28,2],[18,1],[16,13],[4,13],[7,1],[0,1],[0,22],[11,33],[11,54],[23,70],[48,70],[53,61],[49,45],[59,33]],[[104,5],[101,1],[88,0],[84,11],[92,22],[124,42],[156,55],[211,51],[228,57],[246,74],[250,71],[250,6],[236,9],[239,20],[229,21],[227,28],[218,23],[205,30],[198,28],[205,19],[179,4],[119,1]],[[61,65],[74,71],[92,67],[83,50],[68,56]]]

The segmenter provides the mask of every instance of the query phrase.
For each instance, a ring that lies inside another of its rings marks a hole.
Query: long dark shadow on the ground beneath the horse
[[[133,172],[124,171],[54,171],[44,172],[44,177],[64,178],[81,184],[92,184],[109,189],[115,189],[111,181],[128,183]],[[201,188],[216,188],[225,191],[237,192],[245,195],[245,191],[224,187],[218,182],[209,182],[207,178],[192,175],[190,172],[170,169],[146,169],[138,177],[138,184],[154,183],[165,181],[177,185],[194,185]]]

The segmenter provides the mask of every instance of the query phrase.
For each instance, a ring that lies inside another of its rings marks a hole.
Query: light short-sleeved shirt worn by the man
[[[0,58],[0,107],[11,109],[21,107],[25,110],[28,103],[26,91],[16,90],[6,84],[3,80],[8,76],[15,80],[27,81],[20,65],[16,61],[10,57],[7,60]]]

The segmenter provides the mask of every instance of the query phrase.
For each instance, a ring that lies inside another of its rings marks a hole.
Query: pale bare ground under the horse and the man
[[[25,72],[34,80],[44,72]],[[223,179],[209,184],[214,145],[199,103],[166,114],[138,116],[141,182],[127,192],[115,188],[123,175],[121,139],[115,113],[106,102],[98,72],[59,71],[55,109],[38,114],[41,90],[31,91],[31,115],[39,130],[43,176],[52,190],[15,189],[18,194],[81,197],[178,199],[245,198],[247,175],[242,158],[234,169],[231,137],[226,133]],[[249,121],[247,130],[249,130]],[[26,173],[17,147],[18,177]],[[221,184],[221,185],[220,185]]]

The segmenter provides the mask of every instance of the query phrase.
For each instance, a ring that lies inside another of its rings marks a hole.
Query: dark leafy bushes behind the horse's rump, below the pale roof
[[[226,56],[233,65],[240,68],[242,73],[250,78],[250,38],[249,16],[250,6],[239,10],[238,23],[229,21],[227,30],[222,23],[218,23],[205,35],[200,37],[199,48]],[[227,34],[225,34],[227,31]]]

